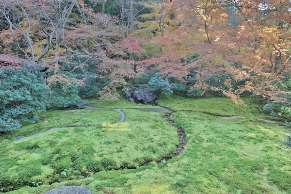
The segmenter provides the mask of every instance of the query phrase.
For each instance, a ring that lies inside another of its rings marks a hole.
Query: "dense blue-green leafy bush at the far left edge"
[[[46,110],[49,87],[27,68],[0,69],[0,132],[16,130],[20,122],[39,121]]]

